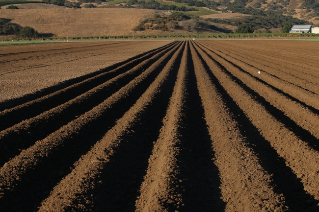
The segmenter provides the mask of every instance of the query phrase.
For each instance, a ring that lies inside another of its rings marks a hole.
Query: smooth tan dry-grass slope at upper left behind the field
[[[133,34],[135,32],[132,29],[140,21],[158,13],[162,12],[146,9],[60,7],[59,9],[1,9],[0,18],[13,19],[12,23],[30,26],[39,33],[51,33],[54,37],[74,37]]]

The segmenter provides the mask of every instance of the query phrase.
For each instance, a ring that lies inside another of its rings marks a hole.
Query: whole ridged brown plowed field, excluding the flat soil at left
[[[318,60],[178,41],[3,104],[0,211],[318,212]]]

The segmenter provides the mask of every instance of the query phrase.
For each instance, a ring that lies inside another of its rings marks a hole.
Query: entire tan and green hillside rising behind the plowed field
[[[229,33],[242,24],[257,33],[277,33],[287,22],[319,24],[319,0],[203,0],[201,6],[196,6],[199,2],[196,0],[92,1],[79,0],[81,9],[52,4],[21,4],[18,10],[2,6],[0,18],[53,37]],[[83,8],[91,3],[94,8]],[[175,8],[175,12],[168,8]],[[176,10],[184,17],[172,18]],[[156,14],[161,18],[154,19]],[[194,26],[188,27],[190,22]],[[1,38],[4,39],[3,35]]]

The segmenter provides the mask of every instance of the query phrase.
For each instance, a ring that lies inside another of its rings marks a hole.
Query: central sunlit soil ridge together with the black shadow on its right
[[[193,67],[187,45],[136,211],[222,211],[225,205]]]

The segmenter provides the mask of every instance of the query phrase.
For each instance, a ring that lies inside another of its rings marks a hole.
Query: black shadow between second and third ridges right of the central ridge
[[[207,54],[207,53],[206,53]],[[213,57],[207,54],[213,61],[216,63],[227,75],[231,77],[232,80],[236,81],[240,87],[245,90],[261,105],[265,107],[269,114],[275,117],[278,121],[283,123],[289,130],[291,130],[297,137],[299,137],[302,141],[308,143],[314,150],[319,151],[319,141],[313,136],[310,132],[303,129],[299,125],[296,124],[291,118],[285,115],[285,112],[277,109],[273,105],[271,105],[263,96],[259,95],[257,92],[249,88],[246,84],[244,84],[239,78],[234,76],[230,71],[228,71],[224,66],[222,66],[218,61],[214,60]],[[236,66],[235,64],[232,64]],[[241,69],[242,70],[242,69]],[[242,70],[243,71],[243,70]]]

